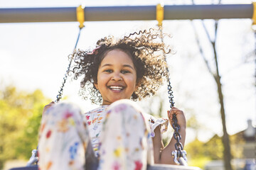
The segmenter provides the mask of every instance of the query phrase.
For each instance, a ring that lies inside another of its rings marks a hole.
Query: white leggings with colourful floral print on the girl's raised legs
[[[43,115],[39,132],[39,168],[85,169],[85,152],[92,149],[80,109],[58,103]],[[134,102],[121,100],[109,106],[100,134],[97,169],[146,169],[153,163],[149,127]]]

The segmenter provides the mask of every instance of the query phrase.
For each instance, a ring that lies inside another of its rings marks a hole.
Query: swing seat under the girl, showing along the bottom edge
[[[97,169],[96,166],[93,166],[94,168],[90,168],[90,170],[96,170]],[[38,166],[37,165],[24,166],[24,167],[18,167],[18,168],[9,169],[9,170],[38,170]],[[169,165],[169,164],[154,164],[154,165],[148,165],[146,167],[146,170],[201,170],[201,169],[198,168],[198,167],[194,167],[194,166],[178,166],[178,165]]]

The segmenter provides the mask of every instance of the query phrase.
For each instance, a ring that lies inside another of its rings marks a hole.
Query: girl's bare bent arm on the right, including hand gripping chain
[[[183,111],[178,110],[178,108],[171,108],[171,111],[168,111],[169,123],[173,123],[172,117],[176,114],[176,118],[178,120],[178,125],[180,125],[181,129],[179,133],[181,135],[181,144],[184,146],[184,142],[186,139],[186,118],[183,114]],[[171,137],[171,141],[169,144],[164,147],[164,144],[161,139],[160,126],[158,126],[155,130],[155,137],[153,138],[153,146],[154,146],[154,163],[155,164],[175,164],[174,158],[171,155],[171,152],[175,150],[176,140],[174,137]]]

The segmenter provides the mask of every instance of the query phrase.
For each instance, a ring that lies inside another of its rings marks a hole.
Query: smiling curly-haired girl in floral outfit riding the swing
[[[92,51],[75,52],[74,79],[82,77],[80,94],[99,108],[81,114],[68,103],[44,108],[39,135],[39,167],[85,169],[97,157],[97,169],[146,169],[146,164],[174,164],[174,137],[164,147],[161,133],[176,114],[181,143],[186,119],[178,108],[168,119],[154,118],[134,101],[152,96],[166,81],[166,62],[161,51],[171,52],[153,30],[139,31],[115,40],[102,38]],[[88,93],[89,92],[89,93]],[[154,103],[149,103],[152,105]],[[87,157],[91,151],[93,153]],[[85,153],[87,153],[85,155]]]

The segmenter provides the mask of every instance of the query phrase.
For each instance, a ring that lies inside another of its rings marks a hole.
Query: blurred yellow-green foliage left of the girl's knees
[[[38,143],[43,107],[50,100],[40,90],[27,93],[6,86],[0,91],[0,169],[8,159],[28,159]]]

